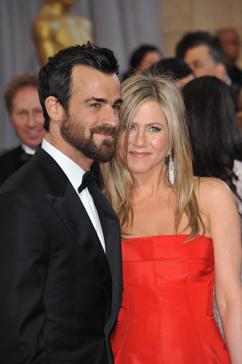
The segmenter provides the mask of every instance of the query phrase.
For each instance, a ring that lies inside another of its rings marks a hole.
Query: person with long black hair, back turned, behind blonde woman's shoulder
[[[193,173],[227,183],[242,228],[242,132],[235,117],[234,94],[221,80],[204,76],[189,82],[183,88],[183,97],[190,118]],[[223,336],[215,298],[213,310]]]

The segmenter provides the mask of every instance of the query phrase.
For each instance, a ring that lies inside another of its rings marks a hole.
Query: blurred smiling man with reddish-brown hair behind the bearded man
[[[20,146],[1,155],[0,186],[31,159],[44,138],[44,116],[37,83],[37,74],[25,72],[13,78],[4,92],[5,106]]]

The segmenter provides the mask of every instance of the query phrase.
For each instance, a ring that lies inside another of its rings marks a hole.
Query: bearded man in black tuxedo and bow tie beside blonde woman
[[[121,106],[113,52],[69,47],[39,73],[42,146],[0,189],[1,364],[111,364],[120,227],[94,183]]]

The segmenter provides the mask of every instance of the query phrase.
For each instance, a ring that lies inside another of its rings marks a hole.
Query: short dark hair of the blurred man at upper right
[[[219,44],[219,40],[209,32],[191,32],[187,33],[177,44],[177,58],[184,59],[185,53],[190,48],[206,44],[209,47],[209,54],[213,58],[215,64],[223,63],[226,65],[226,57],[223,48]]]

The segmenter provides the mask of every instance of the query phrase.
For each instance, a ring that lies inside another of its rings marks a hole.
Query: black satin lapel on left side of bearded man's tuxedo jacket
[[[49,187],[50,193],[46,194],[45,198],[55,208],[80,245],[96,272],[111,306],[112,277],[110,268],[88,213],[72,184],[55,160],[43,149],[36,150],[36,153],[32,161],[43,173]]]

